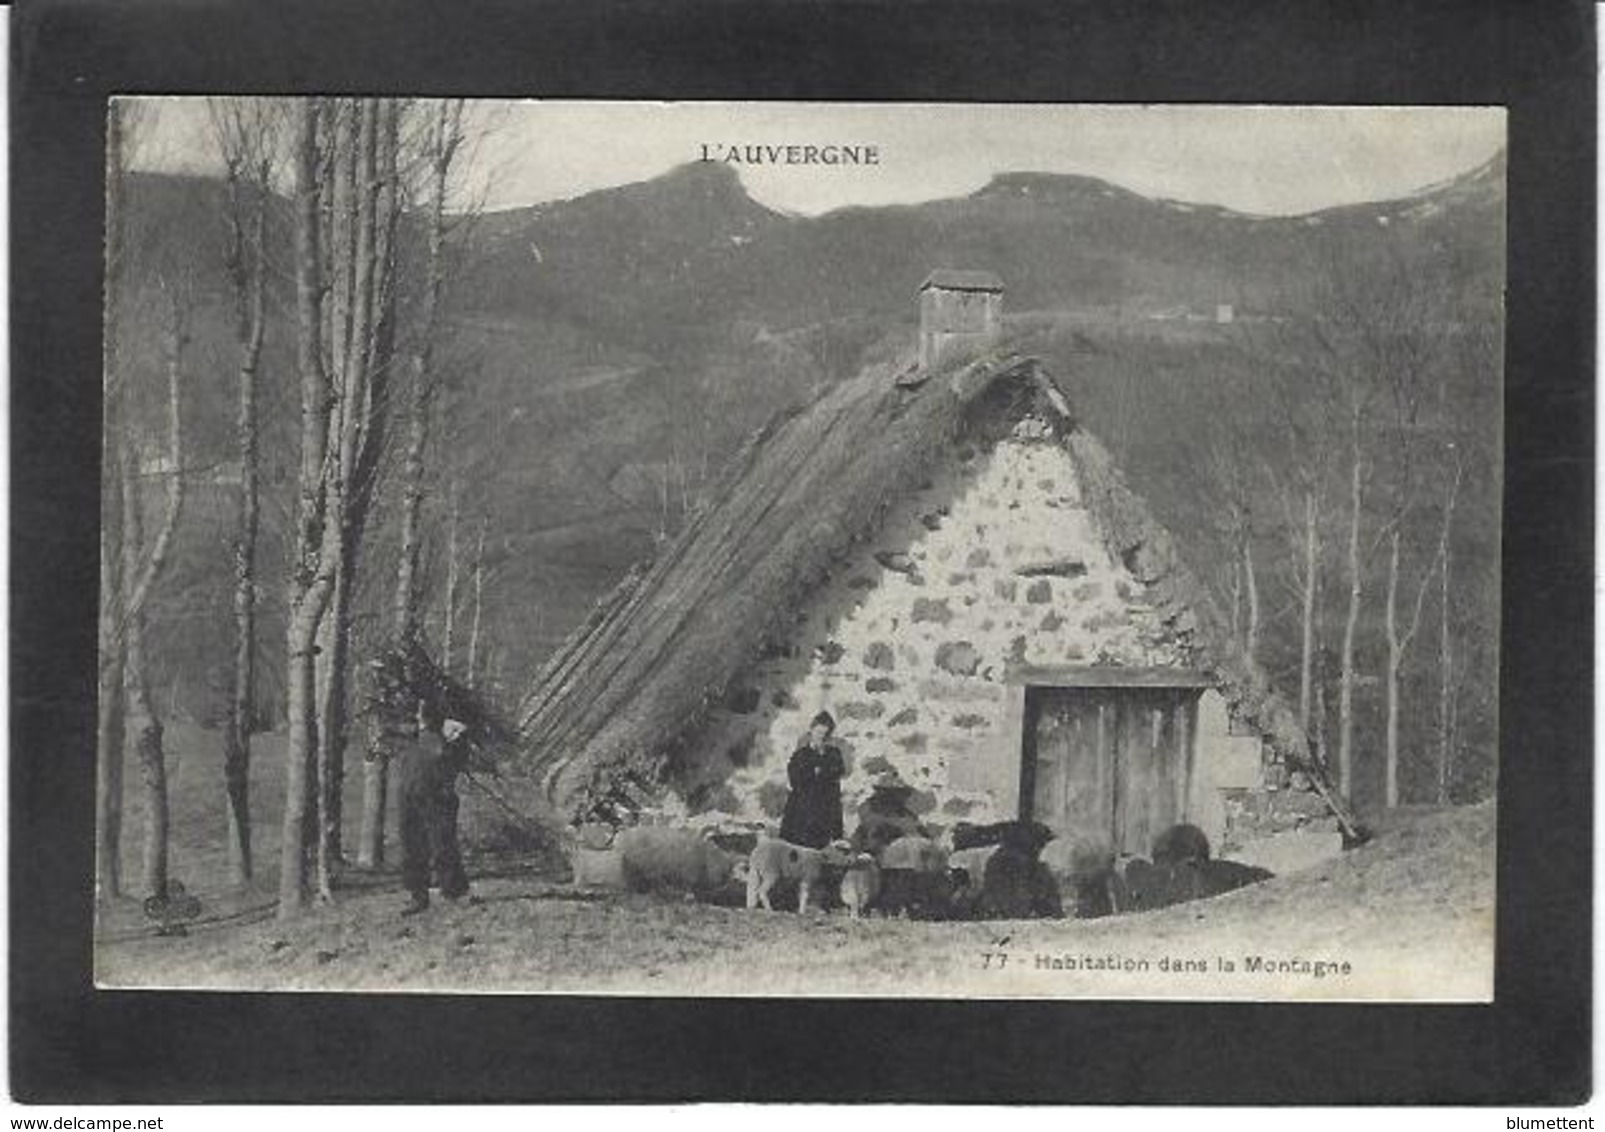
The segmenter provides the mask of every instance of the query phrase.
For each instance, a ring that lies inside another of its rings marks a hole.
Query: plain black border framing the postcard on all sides
[[[11,66],[16,1098],[1587,1098],[1591,5],[24,0]],[[101,108],[112,92],[1509,106],[1496,1004],[95,992]]]

